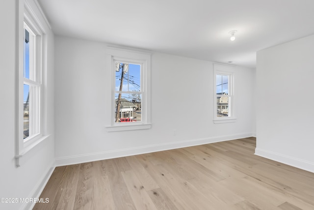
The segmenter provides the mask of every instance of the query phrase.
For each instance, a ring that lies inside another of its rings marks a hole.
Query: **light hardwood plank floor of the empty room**
[[[314,173],[255,138],[56,167],[34,210],[314,210]]]

